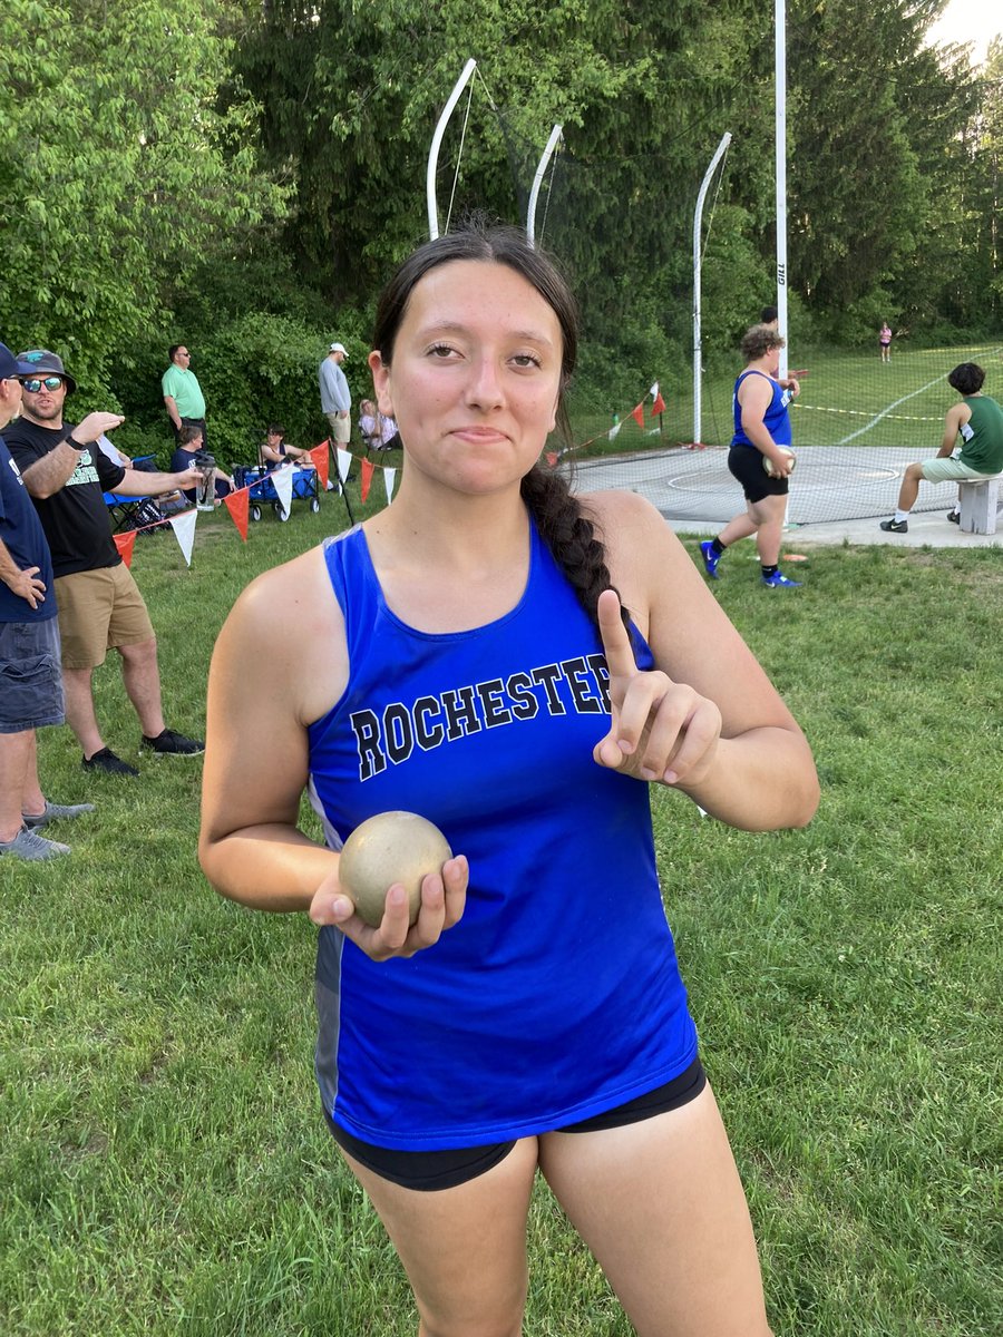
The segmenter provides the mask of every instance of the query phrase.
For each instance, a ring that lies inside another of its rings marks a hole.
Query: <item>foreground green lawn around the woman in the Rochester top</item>
[[[201,519],[191,570],[170,533],[136,543],[173,727],[203,729],[211,646],[246,582],[344,525],[330,496],[294,511],[246,544],[226,516]],[[654,797],[774,1329],[998,1333],[999,554],[816,550],[794,598],[738,574],[714,595],[822,778],[797,833],[733,832]],[[134,759],[111,663],[96,683],[107,742]],[[249,664],[249,730],[265,710]],[[53,829],[68,860],[0,870],[3,1333],[412,1334],[401,1269],[317,1107],[312,927],[209,889],[198,759],[84,777],[59,729],[40,762],[52,798],[98,812]],[[544,1187],[530,1251],[527,1334],[627,1337]]]

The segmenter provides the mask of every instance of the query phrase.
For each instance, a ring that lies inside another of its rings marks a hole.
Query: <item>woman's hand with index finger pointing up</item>
[[[635,779],[697,785],[714,763],[721,711],[686,683],[637,666],[621,602],[599,595],[599,632],[610,673],[610,731],[592,750],[599,766]]]

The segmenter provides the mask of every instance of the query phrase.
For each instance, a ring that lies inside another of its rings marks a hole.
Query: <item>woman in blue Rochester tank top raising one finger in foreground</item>
[[[374,348],[401,484],[227,619],[203,868],[234,900],[321,925],[324,1112],[423,1334],[522,1330],[539,1169],[638,1333],[762,1337],[647,790],[745,829],[798,826],[817,802],[810,753],[658,512],[575,497],[538,463],[576,330],[524,237],[421,247],[381,298]],[[235,706],[251,659],[275,687],[253,739]],[[296,826],[308,783],[324,848]],[[392,885],[370,928],[337,850],[388,809],[435,821],[455,856],[413,925]]]

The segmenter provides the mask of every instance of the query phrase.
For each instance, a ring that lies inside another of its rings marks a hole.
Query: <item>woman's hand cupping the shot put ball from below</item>
[[[421,908],[413,924],[408,923],[408,893],[395,882],[386,892],[380,927],[372,928],[356,915],[336,870],[317,888],[310,901],[310,919],[314,924],[340,928],[374,961],[413,956],[433,947],[443,932],[463,917],[468,881],[469,868],[463,854],[448,858],[439,873],[428,873],[421,882]]]

